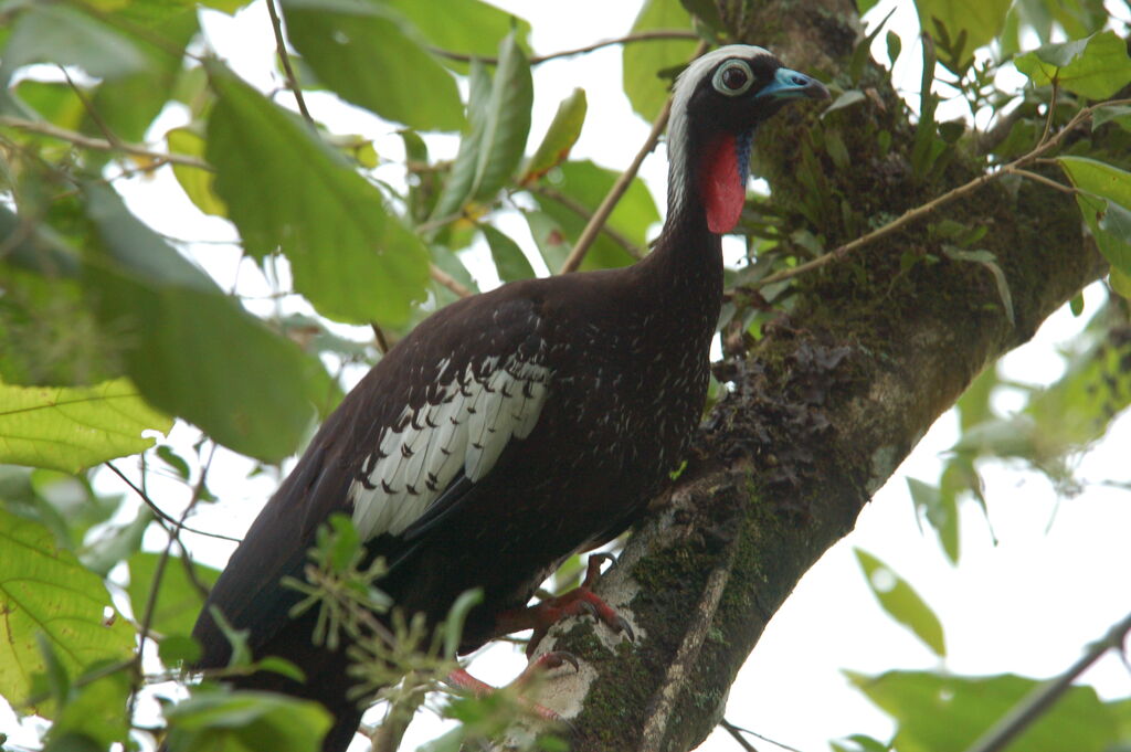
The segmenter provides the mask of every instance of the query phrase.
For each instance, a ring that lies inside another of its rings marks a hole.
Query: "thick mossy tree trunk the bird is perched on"
[[[761,29],[741,38],[791,67],[844,77],[860,21],[845,0],[802,0],[759,7],[743,28]],[[856,86],[871,89],[864,103],[820,122],[795,105],[756,139],[775,206],[826,248],[984,170],[977,139],[965,139],[968,153],[957,150],[941,174],[916,178],[914,126],[887,72],[869,63]],[[851,164],[837,166],[821,147],[832,131]],[[699,431],[687,470],[597,587],[636,642],[572,620],[539,646],[581,660],[535,698],[570,720],[576,752],[698,745],[770,616],[934,420],[1105,271],[1073,199],[1055,190],[999,181],[927,222],[943,216],[987,228],[978,248],[1004,271],[1015,323],[991,273],[947,258],[927,223],[794,280],[788,313],[725,366],[733,389]],[[933,262],[905,269],[907,254]],[[529,733],[512,729],[502,747]]]

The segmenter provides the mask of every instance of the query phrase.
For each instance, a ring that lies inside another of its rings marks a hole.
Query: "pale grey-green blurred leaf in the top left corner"
[[[114,27],[54,2],[34,3],[16,17],[0,61],[0,85],[17,68],[35,62],[77,66],[95,78],[113,79],[143,70],[145,54]]]

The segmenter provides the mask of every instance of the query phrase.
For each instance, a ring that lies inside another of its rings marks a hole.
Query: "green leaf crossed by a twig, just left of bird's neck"
[[[538,191],[534,199],[538,207],[553,217],[564,233],[564,241],[572,245],[585,228],[589,216],[596,211],[605,195],[616,181],[618,173],[598,167],[592,162],[567,162],[559,170],[543,179],[551,193]],[[564,200],[555,198],[561,195]],[[648,228],[659,222],[659,213],[651,193],[639,178],[634,178],[629,189],[613,209],[605,226],[637,249],[646,249]],[[632,263],[633,258],[624,247],[605,231],[589,249],[582,269],[606,269]],[[547,261],[549,262],[549,261]],[[551,266],[556,271],[560,267]]]

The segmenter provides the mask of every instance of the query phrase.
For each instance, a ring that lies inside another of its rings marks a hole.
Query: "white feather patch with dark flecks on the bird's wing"
[[[530,435],[549,377],[545,366],[513,355],[489,358],[454,377],[437,401],[415,412],[406,407],[349,486],[362,538],[403,533],[460,468],[473,483],[490,473],[512,436]]]

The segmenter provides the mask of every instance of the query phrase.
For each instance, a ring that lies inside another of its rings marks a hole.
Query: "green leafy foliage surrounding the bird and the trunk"
[[[176,520],[132,496],[96,492],[101,464],[137,457],[140,472],[130,477],[141,478],[136,495],[147,502],[154,501],[148,482],[172,473],[191,511],[211,498],[216,446],[282,461],[337,403],[347,365],[372,361],[423,317],[477,289],[468,268],[476,250],[476,262],[493,265],[504,282],[533,277],[543,265],[556,271],[618,178],[570,158],[588,114],[584,90],[561,102],[545,133],[530,132],[538,58],[527,42],[529,25],[493,6],[280,0],[290,46],[268,90],[210,52],[201,24],[202,9],[235,14],[248,5],[0,6],[0,461],[37,468],[0,467],[0,693],[54,721],[44,749],[135,743],[129,735],[138,729],[126,709],[146,682],[165,678],[140,675],[135,640],[144,633],[144,647],[158,642],[169,668],[191,662],[197,648],[188,634],[217,577],[192,561]],[[740,5],[744,12],[749,3],[641,3],[632,33],[655,38],[623,50],[622,84],[636,113],[659,114],[696,34],[737,41],[745,23]],[[987,180],[1013,181],[1013,190],[1042,181],[1073,192],[1081,224],[1112,265],[1114,293],[1080,346],[1064,354],[1056,383],[1038,390],[987,371],[959,404],[961,438],[941,477],[910,481],[916,509],[957,562],[964,500],[990,503],[979,467],[1020,458],[1071,492],[1072,458],[1131,403],[1131,328],[1126,302],[1115,294],[1131,291],[1131,110],[1125,101],[1100,104],[1126,96],[1131,61],[1098,0],[918,0],[916,8],[925,34],[922,90],[899,113],[915,127],[901,133],[857,122],[860,111],[881,102],[878,87],[890,85],[870,63],[873,42],[883,34],[892,67],[920,50],[886,21],[873,23],[824,71],[835,100],[809,123],[794,165],[804,195],[748,202],[748,262],[727,270],[720,329],[727,356],[741,356],[744,343],[791,311],[783,275],[839,258],[829,251],[892,227],[888,215],[897,207],[836,195],[822,175],[852,170],[861,139],[914,174],[924,204],[951,188],[956,162],[979,165]],[[265,16],[262,32],[271,31]],[[1039,46],[1021,50],[1030,34]],[[1028,78],[1025,90],[995,83],[1010,67]],[[326,106],[311,110],[308,102]],[[310,114],[347,105],[368,128],[399,129],[404,158],[339,132],[329,114],[326,122]],[[948,105],[969,115],[941,120]],[[1090,133],[1079,128],[1089,118]],[[1005,127],[976,127],[990,122]],[[458,138],[454,158],[432,154],[444,142],[434,135]],[[202,213],[234,228],[242,274],[262,283],[266,295],[243,284],[227,288],[231,280],[215,271],[218,251],[163,235],[149,224],[155,217],[115,190],[164,172]],[[944,211],[941,204],[931,208]],[[504,233],[501,221],[515,213],[535,248]],[[651,193],[633,179],[582,268],[631,263],[659,218]],[[957,214],[930,222],[923,248],[900,261],[900,274],[974,261],[961,266],[996,288],[1013,323],[1007,275],[982,247],[987,228]],[[1008,390],[1024,394],[1016,414],[993,404],[994,394]],[[199,429],[190,450],[156,439],[174,418]],[[169,545],[143,551],[155,526]],[[297,584],[308,596],[302,606],[323,615],[327,640],[338,630],[360,634],[369,612],[390,605],[375,587],[380,568],[361,565],[359,545],[347,522],[335,524],[308,584]],[[942,623],[912,585],[874,556],[857,551],[857,557],[884,611],[944,657]],[[386,693],[415,708],[454,665],[470,605],[456,604],[435,636],[400,619],[391,634],[363,640],[363,678],[377,686],[407,674]],[[239,645],[240,634],[230,637]],[[235,652],[230,671],[248,671],[250,657]],[[896,744],[908,752],[960,749],[1033,684],[941,671],[852,680],[897,719]],[[433,749],[492,736],[516,712],[509,695],[460,699],[449,715],[463,725]],[[164,718],[174,750],[313,750],[329,723],[314,705],[232,693],[213,681],[167,705]],[[1028,732],[1026,749],[1054,749],[1051,740],[1064,735],[1076,749],[1102,750],[1125,741],[1119,729],[1126,726],[1125,703],[1074,689]],[[560,747],[554,737],[537,744]],[[863,736],[851,744],[887,746]]]

